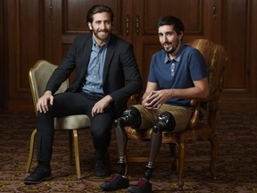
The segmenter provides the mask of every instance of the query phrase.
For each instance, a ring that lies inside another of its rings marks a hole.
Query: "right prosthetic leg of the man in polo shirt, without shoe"
[[[153,125],[151,135],[150,155],[148,163],[145,165],[145,179],[150,180],[153,172],[153,162],[162,144],[162,131],[172,131],[176,127],[176,121],[173,115],[169,112],[159,114],[156,123]]]

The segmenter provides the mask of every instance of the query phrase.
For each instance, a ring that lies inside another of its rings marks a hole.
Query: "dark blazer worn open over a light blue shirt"
[[[55,93],[62,82],[70,77],[70,73],[76,70],[74,81],[67,92],[80,91],[87,75],[92,44],[91,33],[76,37],[61,65],[48,81],[46,90]],[[143,88],[133,46],[113,34],[107,45],[103,86],[104,94],[112,96],[114,105],[122,110],[126,108],[129,96],[139,93]]]

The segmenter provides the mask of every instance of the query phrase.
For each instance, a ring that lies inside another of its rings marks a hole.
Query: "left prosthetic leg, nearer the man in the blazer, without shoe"
[[[121,117],[114,121],[114,131],[119,151],[118,161],[118,173],[125,175],[125,150],[128,143],[128,136],[124,129],[125,126],[131,126],[132,128],[139,128],[141,124],[141,114],[136,107],[130,106],[129,109],[124,111]]]

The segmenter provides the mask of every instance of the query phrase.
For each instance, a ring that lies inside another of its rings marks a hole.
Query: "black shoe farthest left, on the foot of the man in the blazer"
[[[43,180],[51,179],[51,167],[46,165],[37,165],[36,169],[24,179],[25,184],[37,184]]]

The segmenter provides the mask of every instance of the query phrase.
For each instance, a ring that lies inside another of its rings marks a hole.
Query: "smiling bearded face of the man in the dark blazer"
[[[110,13],[95,13],[93,21],[87,23],[93,32],[93,37],[98,46],[102,46],[112,33],[112,21]]]

